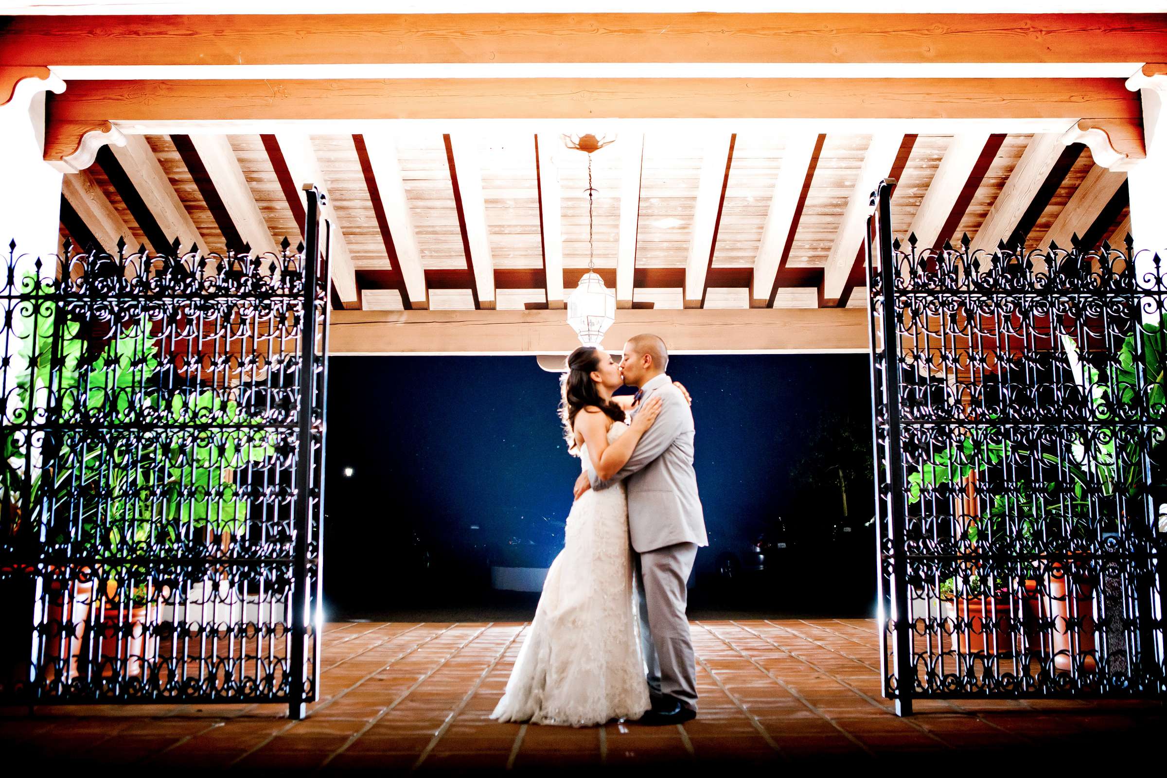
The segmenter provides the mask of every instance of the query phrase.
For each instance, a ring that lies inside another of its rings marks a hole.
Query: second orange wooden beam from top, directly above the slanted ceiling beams
[[[1141,105],[1118,78],[89,80],[48,96],[46,160],[72,154],[85,132],[107,122],[134,134],[181,134],[275,132],[257,128],[281,125],[364,132],[368,121],[385,119],[595,117],[852,121],[868,132],[872,120],[881,129],[896,120],[913,124],[907,132],[991,120],[997,132],[1023,132],[1016,128],[1023,122],[1064,132],[1082,118],[1140,121]]]

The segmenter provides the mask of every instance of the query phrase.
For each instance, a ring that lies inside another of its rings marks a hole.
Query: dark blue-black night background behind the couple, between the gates
[[[670,360],[711,541],[691,616],[872,612],[868,371],[866,355]],[[546,567],[562,547],[580,463],[559,376],[533,357],[334,357],[328,380],[328,616],[530,618],[538,595],[492,590],[490,566]]]

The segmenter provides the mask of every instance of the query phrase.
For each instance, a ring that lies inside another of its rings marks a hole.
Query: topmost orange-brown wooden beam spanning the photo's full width
[[[0,30],[0,63],[76,70],[106,65],[320,69],[382,63],[1167,61],[1167,23],[1160,14],[435,13],[181,19],[175,23],[174,17],[155,15],[18,16],[6,20]],[[263,71],[256,77],[271,75]]]

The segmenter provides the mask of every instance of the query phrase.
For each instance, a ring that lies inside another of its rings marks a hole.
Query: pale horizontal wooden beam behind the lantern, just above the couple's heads
[[[622,310],[609,349],[641,332],[684,352],[865,352],[867,311],[858,308]],[[561,310],[333,313],[329,350],[345,353],[569,353],[579,345]]]

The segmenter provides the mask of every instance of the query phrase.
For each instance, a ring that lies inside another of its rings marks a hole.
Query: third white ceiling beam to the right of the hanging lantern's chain
[[[782,167],[766,212],[762,241],[754,259],[750,300],[754,308],[764,308],[769,303],[817,143],[818,133],[794,133],[787,136]]]

